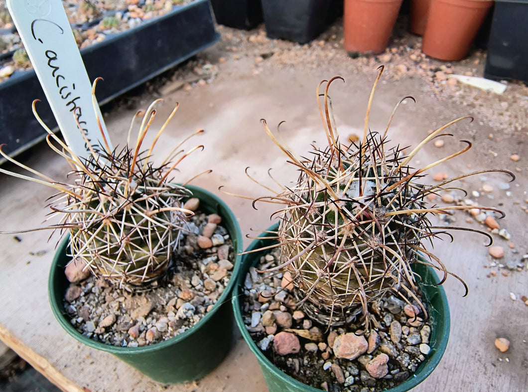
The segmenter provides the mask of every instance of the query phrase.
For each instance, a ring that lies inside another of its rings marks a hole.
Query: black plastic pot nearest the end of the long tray
[[[216,23],[251,30],[262,22],[260,0],[210,0]]]

